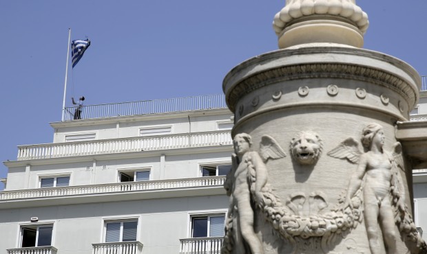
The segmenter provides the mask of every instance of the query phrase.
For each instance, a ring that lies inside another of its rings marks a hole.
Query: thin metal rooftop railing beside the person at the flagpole
[[[224,95],[202,95],[163,100],[122,102],[83,106],[81,119],[120,117],[125,115],[147,115],[181,111],[198,111],[209,108],[227,108]],[[74,119],[75,107],[67,107],[63,121]]]

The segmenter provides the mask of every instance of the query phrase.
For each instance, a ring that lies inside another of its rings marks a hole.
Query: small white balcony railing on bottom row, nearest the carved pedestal
[[[180,254],[220,254],[221,238],[180,239]]]

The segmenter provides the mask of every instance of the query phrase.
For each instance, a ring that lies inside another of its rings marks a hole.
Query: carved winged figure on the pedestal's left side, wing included
[[[286,154],[269,135],[262,136],[259,152],[251,151],[252,139],[246,133],[236,135],[233,146],[233,166],[224,184],[230,199],[221,253],[231,253],[233,250],[233,253],[263,254],[262,242],[253,229],[254,211],[251,204],[260,201],[262,188],[267,184],[265,163],[269,159],[286,157]]]

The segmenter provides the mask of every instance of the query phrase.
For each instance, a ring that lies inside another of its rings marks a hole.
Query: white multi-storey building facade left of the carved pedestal
[[[0,253],[219,253],[233,150],[223,95],[73,110],[51,124],[53,143],[5,163]]]

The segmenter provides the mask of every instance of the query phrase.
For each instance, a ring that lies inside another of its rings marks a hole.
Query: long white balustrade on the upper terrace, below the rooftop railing
[[[231,145],[229,131],[18,146],[18,160]]]

